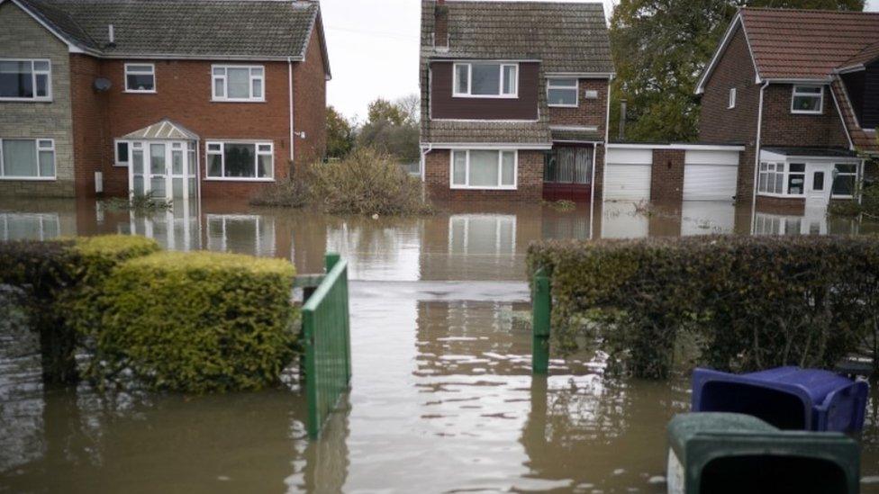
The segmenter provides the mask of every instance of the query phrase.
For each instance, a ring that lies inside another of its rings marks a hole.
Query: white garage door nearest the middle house
[[[608,201],[649,201],[652,149],[607,150],[604,169],[604,199]]]

